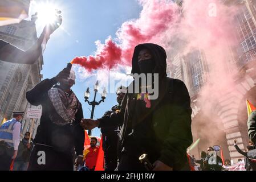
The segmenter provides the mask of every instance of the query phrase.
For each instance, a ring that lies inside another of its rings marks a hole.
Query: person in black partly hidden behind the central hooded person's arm
[[[117,97],[116,100],[118,105],[112,107],[111,110],[105,112],[103,117],[99,119],[102,122],[113,122],[111,119],[111,114],[115,112],[119,112],[121,109],[121,102],[124,98],[124,94],[127,92],[127,88],[125,86],[119,86],[117,88]],[[104,151],[104,169],[105,171],[114,171],[117,167],[117,142],[120,127],[101,127],[101,133],[103,134],[102,137],[102,147]]]

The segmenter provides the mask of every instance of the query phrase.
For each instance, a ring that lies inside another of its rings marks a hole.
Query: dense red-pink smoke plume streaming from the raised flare
[[[141,2],[143,3],[143,2]],[[137,44],[156,42],[158,36],[168,30],[170,24],[178,18],[178,7],[174,3],[153,0],[143,3],[140,18],[123,23],[117,31],[119,44],[111,38],[98,47],[95,56],[75,57],[71,61],[79,64],[87,71],[95,69],[111,69],[116,65],[131,65],[133,49]]]

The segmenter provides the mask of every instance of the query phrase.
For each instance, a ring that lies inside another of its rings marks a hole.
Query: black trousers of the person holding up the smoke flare
[[[28,171],[74,171],[72,154],[36,144],[30,156]]]

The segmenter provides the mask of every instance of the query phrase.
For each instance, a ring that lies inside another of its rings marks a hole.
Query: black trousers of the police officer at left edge
[[[14,148],[0,145],[0,171],[10,171]]]

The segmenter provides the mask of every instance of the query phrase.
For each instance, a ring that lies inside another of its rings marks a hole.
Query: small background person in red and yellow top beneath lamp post
[[[99,154],[99,147],[96,146],[97,138],[90,138],[90,147],[84,150],[84,162],[85,166],[90,170],[94,171],[96,167],[97,155]]]

